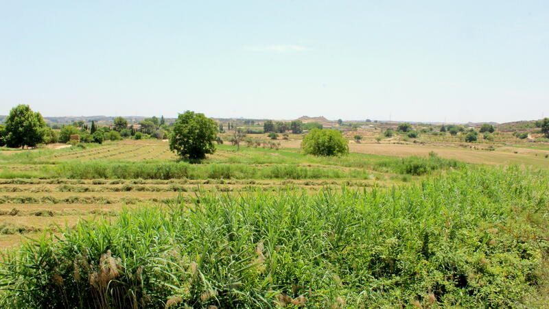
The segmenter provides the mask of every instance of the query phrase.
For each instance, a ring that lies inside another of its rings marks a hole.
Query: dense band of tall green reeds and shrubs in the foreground
[[[6,252],[0,306],[527,307],[548,244],[506,231],[544,229],[530,220],[548,211],[548,179],[471,169],[386,190],[181,197]]]

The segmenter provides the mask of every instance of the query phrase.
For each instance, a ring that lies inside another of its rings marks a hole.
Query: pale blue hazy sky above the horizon
[[[3,1],[0,114],[549,116],[541,1]]]

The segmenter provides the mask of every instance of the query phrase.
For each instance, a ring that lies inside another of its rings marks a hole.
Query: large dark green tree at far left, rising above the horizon
[[[30,106],[19,105],[5,119],[5,145],[8,147],[34,147],[43,143],[46,123],[39,112],[33,112]]]

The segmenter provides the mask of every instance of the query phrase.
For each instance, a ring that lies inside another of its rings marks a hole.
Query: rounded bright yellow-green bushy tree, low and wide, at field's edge
[[[301,148],[314,156],[341,156],[349,153],[349,142],[335,129],[312,129],[301,142]]]

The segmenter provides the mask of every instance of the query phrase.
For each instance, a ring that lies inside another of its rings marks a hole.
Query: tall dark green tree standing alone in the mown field
[[[179,114],[170,134],[170,150],[185,159],[204,159],[215,151],[218,125],[204,114],[187,110]]]

